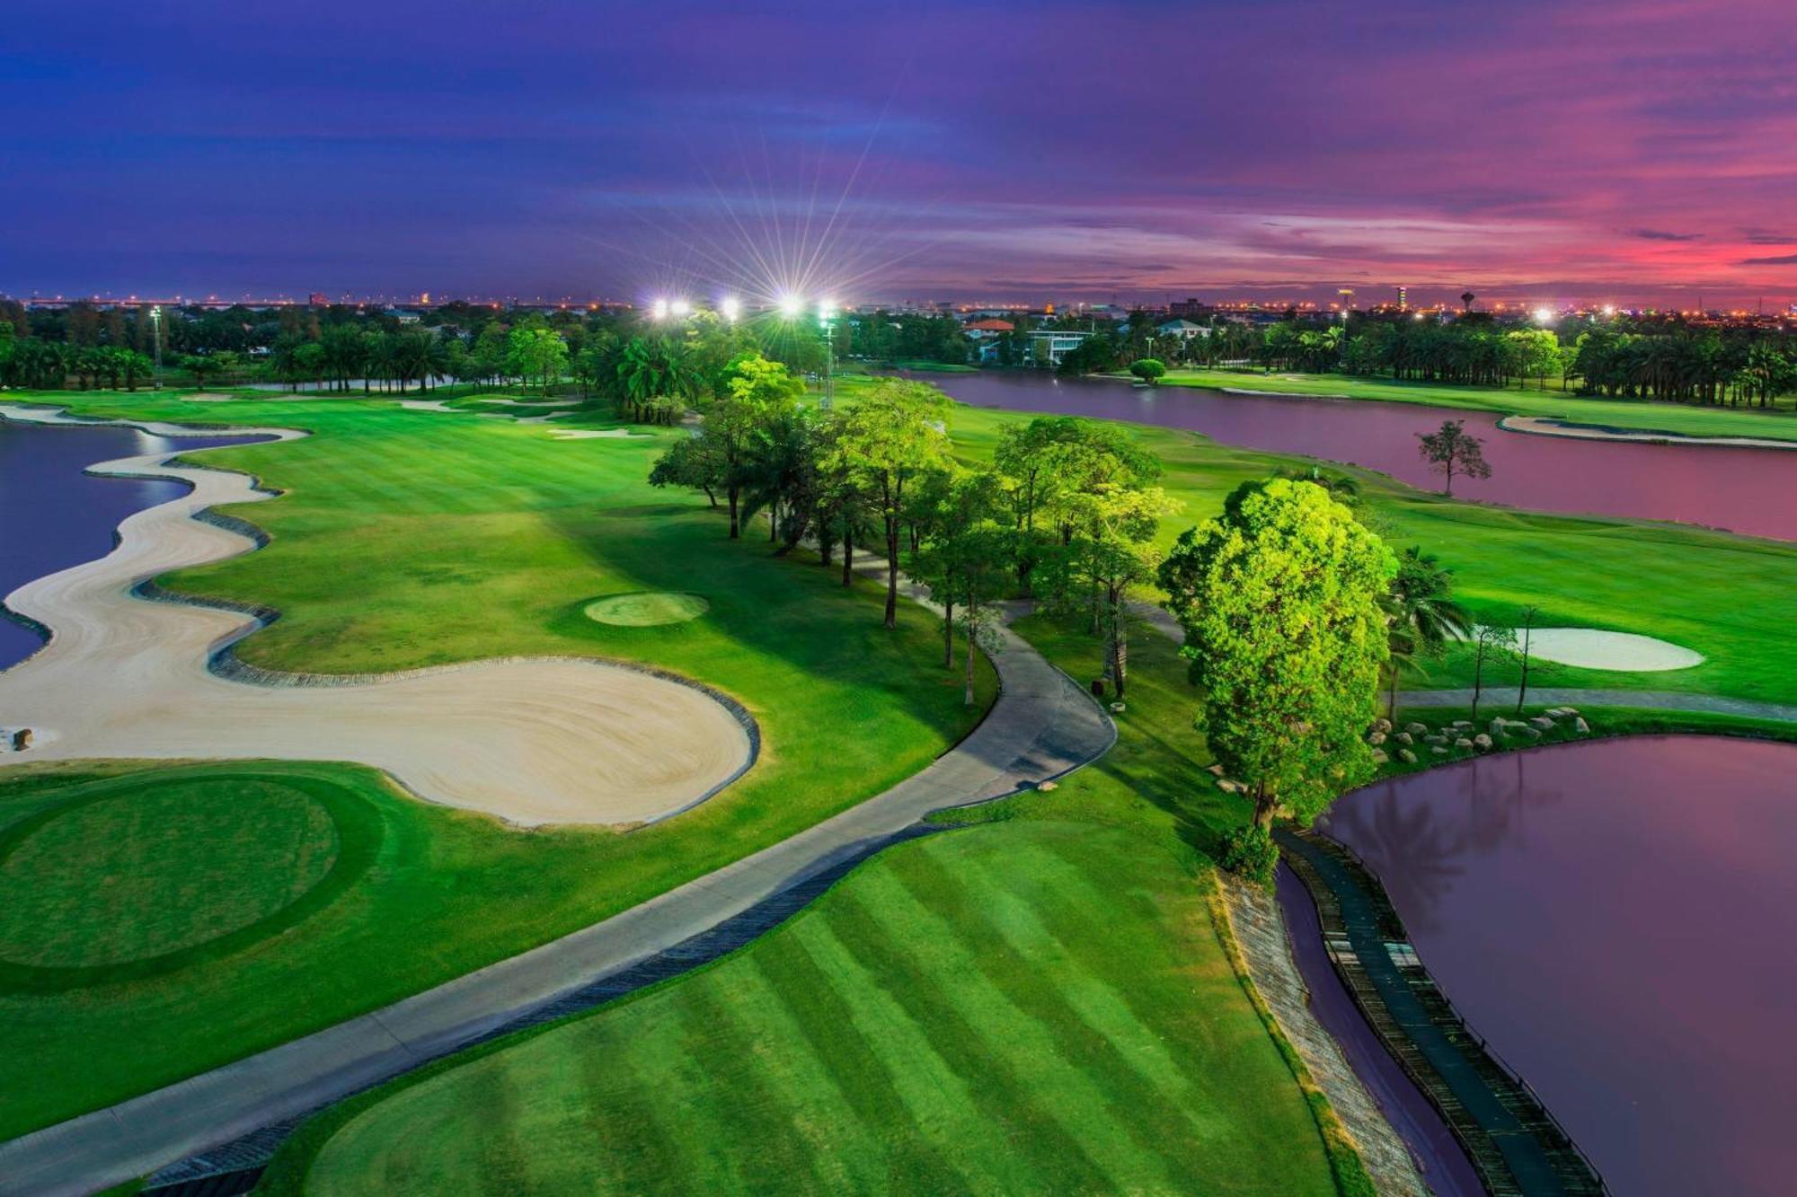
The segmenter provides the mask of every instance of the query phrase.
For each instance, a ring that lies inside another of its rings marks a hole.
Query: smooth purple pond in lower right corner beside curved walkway
[[[1657,737],[1342,798],[1429,971],[1616,1193],[1786,1193],[1797,746]]]

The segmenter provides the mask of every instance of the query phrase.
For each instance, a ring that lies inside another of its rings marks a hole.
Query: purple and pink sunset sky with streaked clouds
[[[0,102],[14,295],[1797,297],[1788,0],[16,0]]]

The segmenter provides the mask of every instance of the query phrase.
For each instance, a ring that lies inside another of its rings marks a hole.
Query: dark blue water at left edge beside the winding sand
[[[253,439],[0,421],[0,597],[45,573],[104,557],[120,519],[187,491],[180,482],[83,474],[88,466],[246,440]],[[38,633],[0,618],[0,669],[25,660],[40,643]]]

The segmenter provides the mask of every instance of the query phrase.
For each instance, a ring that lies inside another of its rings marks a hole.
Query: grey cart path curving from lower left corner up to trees
[[[210,471],[181,476],[187,473]],[[915,588],[907,593],[920,597]],[[1102,757],[1116,742],[1109,715],[1021,636],[1010,629],[997,636],[990,654],[999,674],[997,701],[974,732],[922,773],[735,864],[528,953],[0,1143],[0,1195],[95,1192],[305,1114],[690,940],[891,839],[925,814],[1001,798]],[[336,699],[345,690],[325,694]]]

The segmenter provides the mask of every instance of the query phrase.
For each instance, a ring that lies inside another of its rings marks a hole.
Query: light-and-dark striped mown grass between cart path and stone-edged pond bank
[[[1332,1193],[1208,888],[1139,829],[913,841],[715,967],[332,1111],[264,1186]]]

